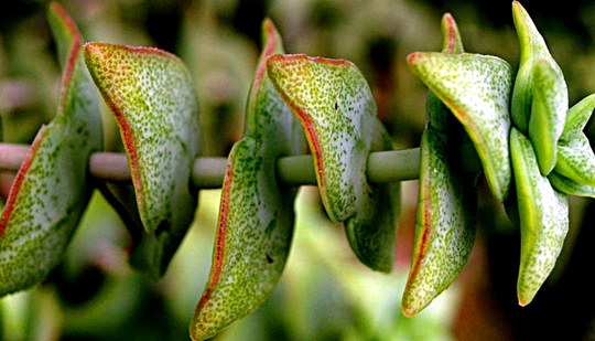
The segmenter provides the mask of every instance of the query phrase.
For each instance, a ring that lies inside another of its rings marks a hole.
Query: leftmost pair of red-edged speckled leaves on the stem
[[[145,230],[133,256],[161,276],[196,205],[190,179],[199,135],[190,73],[158,50],[84,44],[57,3],[50,6],[48,21],[64,65],[60,103],[31,145],[2,212],[0,295],[45,279],[98,185],[88,169],[91,153],[104,148],[97,88],[120,126]]]

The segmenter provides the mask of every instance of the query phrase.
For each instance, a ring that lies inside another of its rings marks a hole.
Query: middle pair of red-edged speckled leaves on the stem
[[[256,310],[279,281],[296,191],[278,182],[275,163],[303,153],[306,139],[324,206],[345,224],[355,254],[377,270],[389,271],[393,262],[400,188],[366,180],[368,154],[391,141],[364,76],[347,61],[282,54],[269,20],[262,35],[245,137],[231,149],[224,180],[210,277],[191,326],[196,340]]]

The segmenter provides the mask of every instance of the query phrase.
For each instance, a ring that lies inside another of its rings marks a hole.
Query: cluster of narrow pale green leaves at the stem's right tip
[[[522,6],[512,2],[520,64],[512,90],[510,150],[520,225],[519,305],[534,298],[553,269],[569,231],[567,195],[593,195],[595,156],[582,131],[593,109],[588,96],[569,109],[562,71]]]

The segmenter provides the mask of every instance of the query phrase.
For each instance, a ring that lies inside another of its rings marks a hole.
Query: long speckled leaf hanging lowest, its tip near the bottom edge
[[[280,185],[275,164],[307,146],[300,121],[267,76],[267,58],[283,52],[270,20],[262,34],[245,137],[227,164],[209,281],[191,326],[194,340],[212,338],[260,307],[275,288],[291,246],[296,189]]]

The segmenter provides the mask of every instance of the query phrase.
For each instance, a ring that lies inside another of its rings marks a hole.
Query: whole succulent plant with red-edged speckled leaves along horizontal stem
[[[220,187],[210,274],[190,322],[192,339],[209,339],[256,311],[278,285],[300,185],[317,185],[325,212],[361,264],[389,273],[400,181],[416,178],[414,247],[402,296],[403,313],[413,317],[465,267],[485,177],[484,194],[521,233],[517,295],[526,306],[564,245],[569,195],[595,198],[595,154],[583,132],[595,95],[570,106],[563,72],[518,1],[518,70],[498,56],[466,52],[450,13],[442,51],[408,56],[428,87],[425,128],[420,148],[411,150],[392,149],[354,63],[286,54],[274,23],[264,20],[244,136],[218,160],[201,153],[198,102],[180,57],[85,42],[57,3],[47,18],[62,89],[57,115],[13,166],[0,220],[1,296],[40,284],[62,262],[95,190],[129,230],[131,266],[159,279],[195,220],[201,189]],[[123,153],[102,151],[102,104]]]

